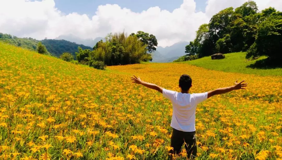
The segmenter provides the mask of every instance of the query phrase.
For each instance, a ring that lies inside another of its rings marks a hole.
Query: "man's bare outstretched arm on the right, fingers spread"
[[[231,86],[231,87],[226,87],[226,88],[219,88],[219,89],[215,89],[213,91],[208,91],[208,98],[210,98],[211,96],[217,95],[217,94],[223,94],[223,93],[227,93],[233,90],[237,90],[237,89],[246,89],[243,87],[247,87],[247,83],[243,83],[245,80],[243,80],[240,83],[237,83],[237,81],[235,82],[235,85]]]

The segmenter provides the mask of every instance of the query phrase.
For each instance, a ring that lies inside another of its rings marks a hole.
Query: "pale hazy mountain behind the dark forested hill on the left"
[[[56,40],[68,40],[70,42],[75,42],[77,44],[83,44],[85,46],[94,47],[96,43],[100,40],[105,41],[105,38],[103,37],[97,37],[94,40],[93,39],[81,39],[80,37],[77,37],[75,35],[69,34],[69,35],[60,35],[59,37],[55,38]]]

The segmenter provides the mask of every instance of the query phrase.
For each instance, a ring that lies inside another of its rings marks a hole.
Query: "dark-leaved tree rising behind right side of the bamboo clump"
[[[146,45],[147,51],[149,53],[156,51],[157,49],[156,47],[158,46],[158,41],[154,35],[152,34],[149,35],[149,33],[138,31],[136,34],[131,33],[130,36],[136,36],[138,39],[140,39],[141,42],[143,42],[143,44]]]

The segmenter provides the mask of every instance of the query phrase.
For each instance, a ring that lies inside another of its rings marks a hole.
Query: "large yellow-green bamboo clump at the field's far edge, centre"
[[[107,66],[135,64],[152,60],[146,47],[147,45],[135,35],[127,36],[124,32],[114,33],[106,37],[106,42],[98,42],[89,56],[85,57],[89,57],[89,60],[102,61]]]

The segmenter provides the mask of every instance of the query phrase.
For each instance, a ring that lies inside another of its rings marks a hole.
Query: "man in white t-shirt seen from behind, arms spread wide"
[[[188,158],[194,159],[197,156],[196,146],[196,129],[195,129],[195,112],[199,103],[205,101],[207,98],[217,94],[227,93],[237,89],[245,89],[247,83],[235,82],[235,85],[226,88],[219,88],[213,91],[205,93],[189,93],[189,89],[192,87],[192,79],[189,75],[182,75],[179,79],[180,92],[170,91],[164,89],[158,85],[144,82],[140,77],[131,77],[134,83],[144,85],[145,87],[155,89],[163,94],[165,98],[168,98],[172,102],[173,114],[171,118],[171,127],[173,128],[171,136],[170,154],[179,154],[183,143],[185,143],[185,149],[188,154]],[[173,157],[171,156],[171,159]]]

